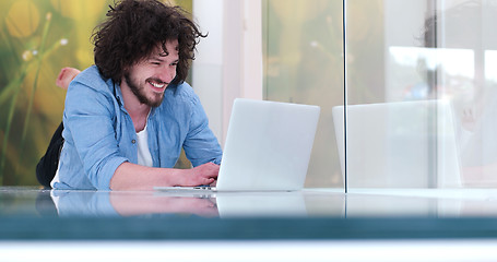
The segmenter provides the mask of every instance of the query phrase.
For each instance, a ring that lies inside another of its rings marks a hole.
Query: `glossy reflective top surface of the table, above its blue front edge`
[[[489,189],[305,189],[297,192],[0,190],[0,217],[354,218],[493,217]]]

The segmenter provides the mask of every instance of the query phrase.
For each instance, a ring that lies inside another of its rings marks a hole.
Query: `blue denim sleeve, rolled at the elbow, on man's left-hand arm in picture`
[[[128,160],[116,140],[116,109],[109,93],[76,81],[68,90],[64,128],[71,134],[84,175],[96,189],[109,189],[117,167]]]

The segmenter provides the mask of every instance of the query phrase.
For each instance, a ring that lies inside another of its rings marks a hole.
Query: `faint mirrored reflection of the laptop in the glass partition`
[[[332,109],[344,176],[343,106]],[[451,106],[417,100],[347,106],[348,188],[460,187]]]

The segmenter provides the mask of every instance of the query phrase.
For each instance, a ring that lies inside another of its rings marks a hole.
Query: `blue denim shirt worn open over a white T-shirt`
[[[63,111],[64,139],[56,189],[108,190],[123,162],[138,164],[137,133],[119,84],[93,66],[69,85]],[[169,85],[147,119],[154,167],[174,167],[181,147],[193,166],[221,164],[221,146],[190,85]]]

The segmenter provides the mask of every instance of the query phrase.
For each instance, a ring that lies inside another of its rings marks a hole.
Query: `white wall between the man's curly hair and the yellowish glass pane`
[[[233,100],[262,99],[261,1],[193,0],[193,16],[209,36],[198,46],[192,85],[224,145]]]

